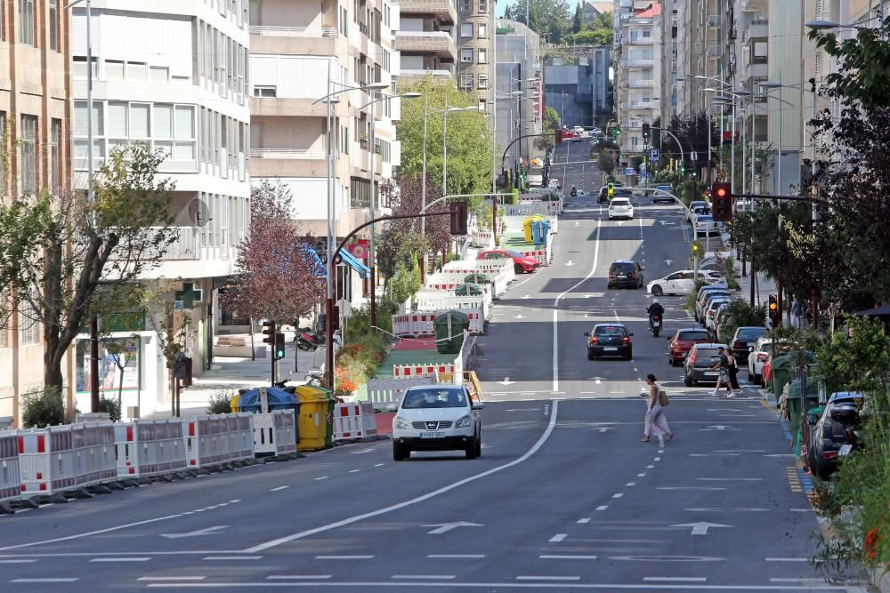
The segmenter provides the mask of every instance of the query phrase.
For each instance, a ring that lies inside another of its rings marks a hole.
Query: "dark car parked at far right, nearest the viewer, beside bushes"
[[[859,411],[864,402],[865,395],[862,393],[833,393],[821,417],[807,418],[810,424],[810,447],[807,450],[810,469],[823,480],[837,469],[838,457],[849,454],[859,446]]]

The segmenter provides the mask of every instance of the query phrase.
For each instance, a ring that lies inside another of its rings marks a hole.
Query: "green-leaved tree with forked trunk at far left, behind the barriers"
[[[155,180],[164,156],[142,143],[114,148],[92,202],[44,190],[0,204],[0,325],[18,309],[20,324],[43,327],[45,389],[62,389],[62,358],[77,334],[92,317],[117,312],[176,240],[174,184]]]

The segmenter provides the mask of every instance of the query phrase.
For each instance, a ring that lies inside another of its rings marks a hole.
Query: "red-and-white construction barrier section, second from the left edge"
[[[52,495],[117,477],[111,422],[19,430],[21,495]]]

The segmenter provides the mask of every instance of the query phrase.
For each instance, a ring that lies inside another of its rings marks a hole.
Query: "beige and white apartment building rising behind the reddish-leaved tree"
[[[423,0],[416,4],[419,10],[427,6]],[[399,9],[400,4],[390,0],[250,3],[251,179],[290,188],[295,218],[304,232],[322,244],[328,232],[328,105],[316,101],[329,92],[368,84],[384,84],[390,89],[384,92],[394,92],[393,75],[399,71],[400,55],[393,38],[400,20],[412,27],[409,33],[421,33],[399,34],[399,44],[417,42],[413,47],[420,50],[409,56],[406,68],[439,68],[440,64],[433,63],[441,59],[438,50],[425,45],[431,40],[447,40],[445,53],[450,63],[454,61],[449,33],[431,30],[429,38],[424,37],[424,22],[439,23],[434,13],[411,20],[400,18]],[[443,14],[454,21],[453,7]],[[368,220],[372,192],[377,215],[388,205],[377,199],[380,183],[392,177],[392,168],[401,163],[393,124],[399,118],[400,101],[377,100],[381,97],[376,91],[352,90],[340,92],[333,105],[332,215],[338,239]],[[372,126],[373,148],[369,146]],[[367,239],[365,231],[359,240]],[[367,280],[345,265],[337,269],[336,287],[337,301],[353,306],[365,302],[371,289]]]

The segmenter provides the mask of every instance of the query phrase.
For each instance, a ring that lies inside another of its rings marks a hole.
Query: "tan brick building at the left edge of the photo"
[[[61,0],[0,2],[0,199],[70,190],[69,17]],[[27,305],[23,305],[27,307]],[[28,311],[0,325],[0,416],[43,385],[43,327]],[[70,376],[69,376],[70,381]]]

